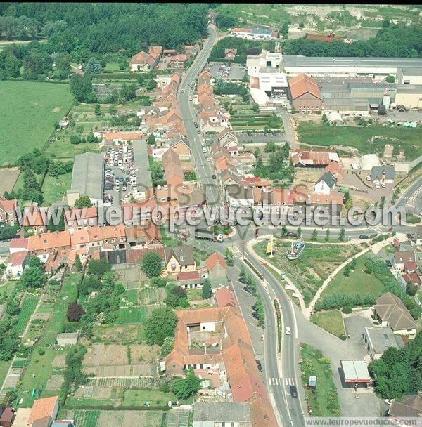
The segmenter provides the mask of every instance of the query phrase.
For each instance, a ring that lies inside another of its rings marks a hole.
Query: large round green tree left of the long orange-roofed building
[[[177,316],[170,307],[155,308],[145,322],[146,342],[162,346],[167,336],[174,336]]]

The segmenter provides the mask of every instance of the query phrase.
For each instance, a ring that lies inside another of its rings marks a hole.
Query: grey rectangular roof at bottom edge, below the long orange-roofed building
[[[241,402],[195,402],[193,422],[195,421],[247,423],[250,422],[249,405]]]

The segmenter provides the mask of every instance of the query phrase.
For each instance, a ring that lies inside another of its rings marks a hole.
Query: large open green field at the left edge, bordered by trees
[[[72,104],[67,84],[2,81],[0,84],[1,164],[41,148]]]

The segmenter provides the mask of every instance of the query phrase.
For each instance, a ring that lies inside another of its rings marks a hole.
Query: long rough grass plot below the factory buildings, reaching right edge
[[[373,136],[385,139],[370,143]],[[422,150],[421,129],[397,128],[388,125],[371,124],[358,126],[326,126],[313,122],[301,121],[298,125],[300,143],[333,146],[355,147],[361,154],[378,153],[383,155],[385,144],[394,146],[393,155],[404,151],[407,160],[418,157]]]

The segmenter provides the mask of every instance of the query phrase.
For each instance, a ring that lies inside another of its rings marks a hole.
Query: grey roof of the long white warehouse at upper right
[[[362,57],[341,57],[341,56],[303,56],[303,55],[283,55],[285,67],[386,67],[386,68],[420,68],[422,58],[362,58]]]

